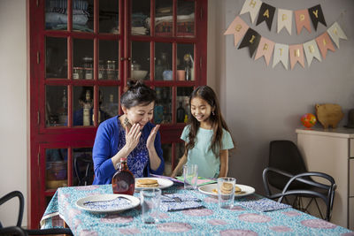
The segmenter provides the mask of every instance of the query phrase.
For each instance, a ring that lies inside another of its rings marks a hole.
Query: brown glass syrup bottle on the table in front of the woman
[[[127,168],[127,158],[120,158],[119,167],[112,177],[113,194],[133,195],[135,190],[134,175]]]

